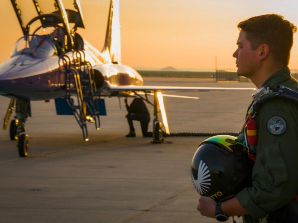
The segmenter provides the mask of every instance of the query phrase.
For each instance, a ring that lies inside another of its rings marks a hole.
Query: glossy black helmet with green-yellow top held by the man
[[[229,135],[206,139],[192,158],[192,183],[202,196],[223,202],[251,185],[253,161],[247,148]]]

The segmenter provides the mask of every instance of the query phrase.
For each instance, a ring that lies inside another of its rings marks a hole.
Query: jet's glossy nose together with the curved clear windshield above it
[[[58,60],[51,40],[38,35],[21,37],[11,58],[0,64],[0,94],[30,100],[49,99],[48,94],[59,91],[64,83]],[[45,91],[50,92],[43,94]]]

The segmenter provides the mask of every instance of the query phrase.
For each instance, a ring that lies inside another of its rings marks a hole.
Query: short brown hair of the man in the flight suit
[[[293,46],[293,33],[297,27],[282,15],[266,14],[251,17],[240,22],[237,27],[246,32],[246,39],[255,50],[262,44],[268,44],[276,63],[287,66]]]

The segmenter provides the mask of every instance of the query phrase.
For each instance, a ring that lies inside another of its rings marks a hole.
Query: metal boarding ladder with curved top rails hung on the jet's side
[[[93,122],[95,128],[100,129],[100,94],[92,65],[85,59],[83,50],[75,50],[71,58],[68,55],[61,56],[59,65],[61,72],[65,73],[65,99],[83,131],[85,141],[88,141],[86,121]],[[71,98],[72,95],[75,95],[75,100]]]

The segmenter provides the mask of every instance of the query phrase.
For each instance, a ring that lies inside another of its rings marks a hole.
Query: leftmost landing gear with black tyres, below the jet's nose
[[[29,149],[29,136],[25,134],[25,122],[28,117],[31,117],[30,100],[11,99],[4,118],[3,130],[7,128],[9,118],[15,106],[16,116],[10,122],[9,136],[11,140],[18,140],[17,148],[20,157],[26,157]]]

